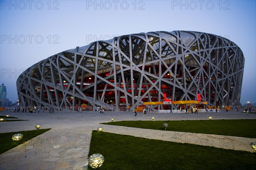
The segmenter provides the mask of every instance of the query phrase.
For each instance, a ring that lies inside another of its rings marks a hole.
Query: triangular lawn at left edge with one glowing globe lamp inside
[[[23,144],[26,141],[29,141],[30,139],[47,132],[50,129],[38,129],[38,130],[26,130],[26,131],[19,131],[19,132],[10,132],[10,133],[0,133],[0,153],[4,153],[5,151],[12,149],[13,147],[16,147],[20,144]],[[23,134],[23,138],[18,141],[14,142],[12,140],[12,136],[16,133]]]

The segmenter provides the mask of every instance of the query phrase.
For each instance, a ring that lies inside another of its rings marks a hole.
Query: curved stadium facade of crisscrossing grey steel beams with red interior
[[[168,99],[239,105],[244,56],[232,41],[195,31],[114,37],[63,51],[17,79],[21,106],[115,108]],[[158,109],[163,109],[159,105]]]

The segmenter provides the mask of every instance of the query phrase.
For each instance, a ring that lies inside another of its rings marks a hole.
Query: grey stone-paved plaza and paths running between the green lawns
[[[224,149],[246,150],[255,139],[210,135],[201,133],[184,133],[164,130],[139,129],[102,125],[102,122],[121,120],[207,120],[212,119],[256,119],[256,114],[238,113],[236,111],[219,113],[147,113],[145,116],[133,112],[61,112],[55,113],[14,113],[9,114],[29,121],[1,122],[0,133],[35,130],[36,124],[41,128],[52,128],[24,144],[21,144],[0,155],[0,170],[87,170],[88,153],[92,130],[102,126],[104,132],[131,135],[148,139],[159,139],[172,142],[191,143],[214,146]]]

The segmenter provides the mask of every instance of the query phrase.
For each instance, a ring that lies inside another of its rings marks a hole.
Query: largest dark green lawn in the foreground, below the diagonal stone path
[[[89,156],[99,170],[255,170],[256,153],[93,131]],[[93,170],[88,167],[88,170]]]

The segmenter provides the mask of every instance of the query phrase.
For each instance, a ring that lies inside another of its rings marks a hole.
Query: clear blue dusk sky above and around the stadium
[[[200,31],[235,42],[245,58],[240,102],[256,103],[255,0],[1,0],[0,83],[17,100],[17,77],[61,51],[150,31]]]

